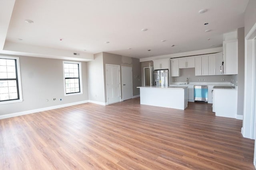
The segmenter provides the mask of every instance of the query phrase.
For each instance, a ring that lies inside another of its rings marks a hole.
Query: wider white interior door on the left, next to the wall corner
[[[120,66],[106,64],[108,104],[121,101]]]

